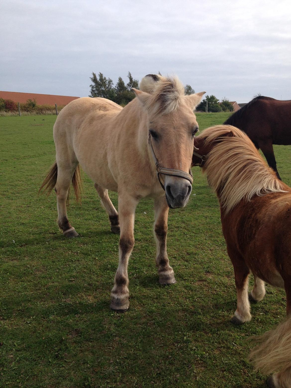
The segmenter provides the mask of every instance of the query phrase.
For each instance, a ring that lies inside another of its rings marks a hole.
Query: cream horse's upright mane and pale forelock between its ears
[[[168,114],[178,109],[185,94],[184,86],[177,77],[163,77],[160,74],[146,75],[140,81],[139,88],[152,95],[149,107],[155,107],[158,114]]]

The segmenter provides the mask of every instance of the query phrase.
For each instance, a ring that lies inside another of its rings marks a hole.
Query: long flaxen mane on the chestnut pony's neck
[[[242,199],[250,201],[254,195],[286,192],[253,142],[238,128],[217,125],[204,130],[200,137],[206,137],[206,145],[214,143],[203,171],[226,213]]]

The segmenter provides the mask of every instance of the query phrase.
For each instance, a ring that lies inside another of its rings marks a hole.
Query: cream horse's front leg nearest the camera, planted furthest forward
[[[129,290],[127,266],[134,246],[134,216],[138,201],[130,196],[118,197],[118,213],[120,220],[119,264],[111,290],[111,310],[125,312],[129,308]]]

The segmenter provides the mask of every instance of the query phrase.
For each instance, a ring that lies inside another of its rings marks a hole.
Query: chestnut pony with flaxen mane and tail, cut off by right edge
[[[197,140],[197,141],[196,141]],[[195,138],[193,165],[201,165],[219,202],[227,252],[234,267],[237,309],[232,322],[251,319],[249,299],[260,301],[264,282],[284,288],[287,320],[259,338],[250,354],[276,388],[291,387],[291,188],[268,167],[249,137],[230,125]],[[255,285],[248,298],[248,277]]]

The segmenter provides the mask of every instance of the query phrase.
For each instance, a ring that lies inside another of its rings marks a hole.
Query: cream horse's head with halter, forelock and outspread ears
[[[182,208],[192,190],[193,141],[198,131],[193,110],[205,92],[185,95],[177,78],[155,74],[145,76],[140,89],[133,90],[147,113],[149,158],[169,207]]]

